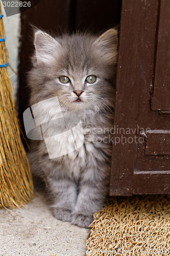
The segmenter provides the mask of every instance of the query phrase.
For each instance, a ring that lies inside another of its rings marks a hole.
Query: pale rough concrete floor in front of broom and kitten
[[[25,208],[0,210],[1,256],[84,256],[88,233],[56,220],[40,191]]]

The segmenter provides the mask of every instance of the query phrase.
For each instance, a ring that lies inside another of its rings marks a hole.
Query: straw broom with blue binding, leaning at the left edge
[[[23,206],[33,197],[29,162],[20,139],[0,3],[0,208]]]

